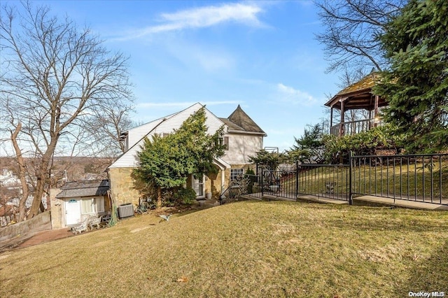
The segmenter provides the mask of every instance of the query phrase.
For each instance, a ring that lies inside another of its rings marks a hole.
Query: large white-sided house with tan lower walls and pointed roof
[[[197,103],[183,111],[167,115],[122,134],[126,152],[108,168],[111,181],[111,196],[116,204],[139,204],[141,194],[139,185],[132,178],[132,170],[139,166],[137,153],[141,150],[144,138],[154,134],[169,134],[173,129],[179,129],[182,123],[193,113],[202,108]],[[228,118],[218,118],[205,108],[208,133],[214,134],[224,127],[223,143],[227,146],[225,155],[214,160],[217,174],[205,175],[201,180],[193,176],[188,178],[188,185],[195,190],[198,199],[218,198],[230,185],[230,180],[244,174],[251,165],[250,156],[263,148],[265,132],[238,106]]]

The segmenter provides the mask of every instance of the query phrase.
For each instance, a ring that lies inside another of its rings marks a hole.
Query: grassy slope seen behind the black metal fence
[[[327,183],[333,183],[335,193],[346,194],[349,189],[348,175],[348,167],[326,166],[311,169],[300,174],[300,192],[321,194],[326,192]],[[292,178],[284,185],[292,187],[288,185],[294,183],[295,178]],[[432,190],[433,199],[438,202],[440,197],[448,199],[448,162],[435,162],[432,168],[423,167],[421,162],[409,166],[400,166],[398,163],[395,166],[356,166],[352,172],[352,190],[355,193],[377,194],[383,197],[400,197],[401,194],[404,199],[422,199],[424,196],[425,201],[430,200]]]

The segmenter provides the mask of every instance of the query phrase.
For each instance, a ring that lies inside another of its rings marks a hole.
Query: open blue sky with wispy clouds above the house
[[[130,56],[139,123],[196,102],[228,117],[240,104],[267,132],[265,146],[284,150],[338,91],[312,1],[35,2]]]

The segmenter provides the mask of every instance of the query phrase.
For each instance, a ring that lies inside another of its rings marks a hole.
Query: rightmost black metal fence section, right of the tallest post
[[[448,155],[351,157],[353,195],[448,204]]]

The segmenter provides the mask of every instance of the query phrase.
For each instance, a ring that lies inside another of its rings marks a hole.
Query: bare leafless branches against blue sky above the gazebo
[[[316,0],[328,71],[372,69],[386,65],[378,36],[407,0]]]

